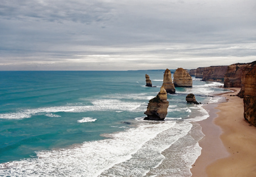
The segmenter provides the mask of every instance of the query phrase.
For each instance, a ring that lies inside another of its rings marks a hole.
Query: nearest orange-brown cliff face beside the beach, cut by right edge
[[[256,66],[245,76],[244,118],[256,126]]]

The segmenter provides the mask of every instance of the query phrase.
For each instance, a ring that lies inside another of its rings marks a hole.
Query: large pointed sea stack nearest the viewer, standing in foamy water
[[[162,86],[156,97],[149,100],[146,112],[144,113],[147,117],[144,120],[164,120],[167,115],[168,106],[167,92]]]

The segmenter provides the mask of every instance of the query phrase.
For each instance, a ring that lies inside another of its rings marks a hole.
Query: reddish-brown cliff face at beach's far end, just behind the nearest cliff
[[[243,70],[247,67],[248,63],[235,63],[227,67],[227,71],[224,76],[225,88],[241,88],[242,87],[242,74]]]

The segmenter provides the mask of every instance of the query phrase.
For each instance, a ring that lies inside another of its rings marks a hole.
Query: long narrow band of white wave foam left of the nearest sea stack
[[[30,118],[33,115],[42,113],[57,113],[57,112],[88,112],[88,111],[140,111],[141,103],[125,102],[118,99],[103,99],[93,100],[92,106],[54,106],[37,109],[19,109],[16,113],[0,114],[0,118],[19,119]]]

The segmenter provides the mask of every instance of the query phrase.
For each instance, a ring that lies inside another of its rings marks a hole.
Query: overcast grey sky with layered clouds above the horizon
[[[256,60],[256,0],[0,0],[0,70]]]

